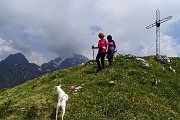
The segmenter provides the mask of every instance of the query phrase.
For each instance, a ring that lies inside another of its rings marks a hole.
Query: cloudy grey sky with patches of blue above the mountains
[[[156,20],[161,54],[180,57],[179,0],[0,0],[0,60],[23,53],[41,65],[59,56],[92,59],[99,32],[111,34],[120,54],[155,55]]]

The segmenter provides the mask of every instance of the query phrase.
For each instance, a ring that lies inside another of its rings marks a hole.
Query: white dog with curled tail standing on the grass
[[[65,94],[65,92],[61,89],[61,85],[56,86],[55,90],[58,93],[58,103],[57,103],[57,108],[56,108],[56,120],[58,117],[58,112],[59,112],[59,107],[61,106],[62,108],[62,120],[65,114],[65,109],[66,109],[66,101],[68,100],[68,95]]]

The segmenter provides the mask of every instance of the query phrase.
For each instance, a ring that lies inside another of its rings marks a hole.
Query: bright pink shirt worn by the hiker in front
[[[107,52],[108,41],[106,39],[99,40],[98,48],[100,52]]]

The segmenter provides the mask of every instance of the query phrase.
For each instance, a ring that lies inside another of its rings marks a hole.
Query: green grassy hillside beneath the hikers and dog
[[[65,120],[179,119],[180,59],[172,58],[176,73],[152,56],[144,59],[150,69],[126,55],[116,57],[113,66],[98,73],[96,65],[81,65],[3,90],[0,120],[54,119],[57,93],[53,88],[58,83],[69,95]],[[114,85],[109,84],[111,80]],[[158,86],[151,85],[154,80],[160,81]],[[70,91],[72,85],[81,84],[78,94]]]

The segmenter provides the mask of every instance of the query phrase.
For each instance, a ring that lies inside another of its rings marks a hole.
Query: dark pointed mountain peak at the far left
[[[11,54],[0,62],[0,89],[9,88],[42,75],[40,67],[29,63],[21,53]]]

